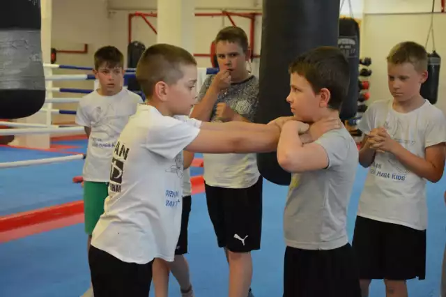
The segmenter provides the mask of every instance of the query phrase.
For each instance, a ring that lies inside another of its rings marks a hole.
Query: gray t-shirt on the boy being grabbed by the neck
[[[348,243],[347,207],[355,181],[358,151],[345,129],[316,140],[328,155],[328,167],[293,174],[286,199],[286,245],[302,250],[332,250]]]

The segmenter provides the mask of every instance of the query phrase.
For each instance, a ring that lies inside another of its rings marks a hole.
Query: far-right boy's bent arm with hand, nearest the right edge
[[[411,172],[432,183],[440,181],[445,169],[445,143],[435,144],[425,149],[425,157],[421,158],[396,142],[387,131],[380,128],[376,135],[374,148],[392,153]]]

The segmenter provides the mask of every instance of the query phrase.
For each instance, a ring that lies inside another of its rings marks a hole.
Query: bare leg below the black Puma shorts
[[[229,258],[229,297],[246,297],[252,280],[250,252],[231,252]]]

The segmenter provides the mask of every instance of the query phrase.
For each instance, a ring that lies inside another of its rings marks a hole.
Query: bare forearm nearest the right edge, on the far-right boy
[[[397,144],[390,153],[392,153],[404,167],[410,170],[410,172],[417,174],[417,176],[426,178],[433,183],[440,180],[441,174],[439,176],[438,170],[436,170],[436,167],[434,167],[431,162],[410,153],[410,151],[401,146],[401,144]]]

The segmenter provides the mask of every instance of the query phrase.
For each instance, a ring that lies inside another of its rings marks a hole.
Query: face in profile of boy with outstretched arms
[[[183,77],[176,84],[168,86],[169,91],[165,100],[173,115],[188,116],[197,101],[197,90],[195,89],[197,66],[185,65],[181,66],[181,69],[183,70]]]

